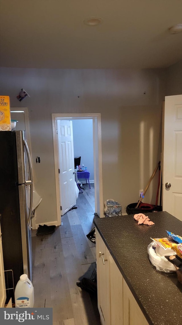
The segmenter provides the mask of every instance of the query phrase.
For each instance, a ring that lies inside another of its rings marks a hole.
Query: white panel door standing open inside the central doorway
[[[57,120],[61,215],[76,204],[72,121]]]

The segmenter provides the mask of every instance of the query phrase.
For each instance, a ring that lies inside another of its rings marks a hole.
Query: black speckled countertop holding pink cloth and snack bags
[[[147,214],[155,225],[138,225],[132,215],[94,218],[94,224],[151,325],[182,325],[182,284],[176,273],[152,266],[147,246],[169,230],[182,234],[182,222],[167,212]]]

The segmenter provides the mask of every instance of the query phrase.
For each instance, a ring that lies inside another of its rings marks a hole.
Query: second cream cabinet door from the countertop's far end
[[[110,273],[110,323],[123,325],[123,277],[106,248]]]

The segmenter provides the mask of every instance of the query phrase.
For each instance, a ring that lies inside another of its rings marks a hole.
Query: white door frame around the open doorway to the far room
[[[56,182],[56,205],[58,225],[61,225],[60,186],[59,186],[59,157],[56,120],[93,120],[93,147],[94,147],[94,183],[95,198],[99,198],[99,207],[95,199],[95,211],[104,217],[103,211],[103,186],[102,186],[102,146],[101,146],[101,114],[100,113],[52,113],[52,136],[54,150],[54,169]]]

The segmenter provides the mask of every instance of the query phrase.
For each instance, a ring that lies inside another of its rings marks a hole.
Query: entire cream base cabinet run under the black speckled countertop
[[[148,325],[96,229],[97,297],[102,325]]]

